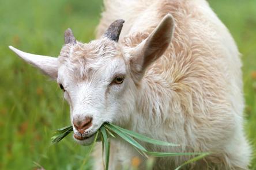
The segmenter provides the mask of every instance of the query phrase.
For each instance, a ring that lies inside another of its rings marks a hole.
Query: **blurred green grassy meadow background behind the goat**
[[[209,0],[234,36],[243,60],[246,134],[256,147],[256,1]],[[18,59],[8,45],[58,56],[65,29],[78,41],[93,40],[102,0],[0,0],[0,169],[90,169],[81,167],[88,148],[71,135],[51,145],[52,129],[70,124],[69,107],[57,83]],[[256,169],[253,155],[251,169]]]

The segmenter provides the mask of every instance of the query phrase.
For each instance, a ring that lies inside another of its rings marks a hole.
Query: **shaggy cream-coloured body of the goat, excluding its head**
[[[112,21],[122,18],[126,22],[120,41],[126,47],[140,44],[165,14],[171,13],[175,18],[170,48],[147,69],[141,80],[130,129],[183,145],[180,148],[146,145],[149,150],[213,153],[191,168],[247,169],[250,147],[243,134],[239,52],[208,3],[115,0],[105,1],[104,5],[97,37]],[[112,160],[112,169],[131,159],[123,146],[116,148],[116,153],[111,154],[118,161]],[[187,159],[157,159],[154,169],[173,169]]]

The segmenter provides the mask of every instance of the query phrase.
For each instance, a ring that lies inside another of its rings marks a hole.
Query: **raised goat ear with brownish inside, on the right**
[[[131,51],[130,65],[135,79],[140,80],[145,69],[159,59],[171,42],[174,32],[174,19],[167,14],[160,24]]]

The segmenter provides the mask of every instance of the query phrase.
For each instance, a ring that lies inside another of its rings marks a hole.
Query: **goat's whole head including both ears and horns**
[[[118,42],[123,22],[116,20],[103,37],[88,44],[77,42],[67,29],[58,58],[10,47],[57,80],[70,105],[74,138],[80,144],[91,144],[104,122],[123,126],[129,123],[139,98],[138,83],[146,68],[163,55],[174,31],[174,20],[167,14],[148,38],[129,48]]]

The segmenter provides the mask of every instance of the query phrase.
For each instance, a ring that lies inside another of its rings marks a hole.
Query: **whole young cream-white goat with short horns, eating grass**
[[[102,123],[112,122],[182,144],[143,144],[148,150],[212,152],[187,168],[248,169],[251,151],[243,133],[239,52],[208,3],[104,3],[97,40],[82,44],[68,29],[58,59],[10,47],[60,84],[70,105],[75,140],[90,144]],[[119,18],[126,21],[124,26]],[[103,168],[100,152],[97,147],[95,169]],[[112,142],[111,155],[110,169],[121,169],[140,157],[119,140]],[[189,158],[159,158],[153,169],[173,169]]]

